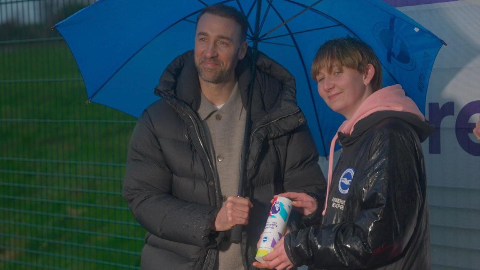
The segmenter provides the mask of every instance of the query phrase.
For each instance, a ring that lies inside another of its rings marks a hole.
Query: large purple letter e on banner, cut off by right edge
[[[462,108],[458,113],[455,123],[456,140],[468,154],[480,157],[480,143],[472,141],[469,133],[475,128],[475,123],[469,123],[470,117],[476,113],[480,113],[480,100],[475,100]]]

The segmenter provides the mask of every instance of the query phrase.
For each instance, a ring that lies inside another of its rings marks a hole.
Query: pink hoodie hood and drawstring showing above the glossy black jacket
[[[330,193],[330,184],[332,183],[332,170],[333,170],[333,152],[335,149],[335,142],[338,138],[338,132],[342,132],[345,135],[351,135],[353,132],[353,127],[361,119],[371,115],[376,111],[381,110],[395,110],[395,111],[407,111],[415,114],[422,121],[425,121],[425,117],[420,112],[419,108],[413,102],[411,98],[405,96],[405,91],[400,85],[387,86],[384,87],[368,98],[366,98],[360,107],[355,111],[352,117],[348,120],[345,120],[340,127],[338,128],[337,134],[332,139],[330,144],[330,155],[328,160],[328,182],[327,182],[327,194],[325,197],[324,210],[322,212],[325,215],[328,196]]]

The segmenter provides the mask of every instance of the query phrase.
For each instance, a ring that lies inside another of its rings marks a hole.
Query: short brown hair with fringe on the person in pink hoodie
[[[372,64],[375,68],[372,84],[373,91],[382,88],[382,66],[372,48],[365,42],[354,37],[341,37],[330,39],[318,49],[312,62],[312,78],[316,77],[320,70],[327,68],[327,72],[332,72],[332,65],[338,67],[348,67],[361,74],[365,72],[367,64]]]

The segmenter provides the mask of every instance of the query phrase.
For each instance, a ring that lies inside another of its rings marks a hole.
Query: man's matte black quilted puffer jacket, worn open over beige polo
[[[248,53],[236,69],[243,104],[249,59]],[[244,190],[253,208],[239,254],[246,269],[254,269],[270,199],[283,191],[324,194],[326,188],[312,135],[296,104],[293,77],[263,54],[257,66]],[[227,235],[210,231],[221,192],[207,154],[212,145],[196,112],[200,86],[193,51],[167,67],[156,94],[162,99],[143,112],[133,131],[123,187],[135,219],[147,230],[142,269],[213,269],[216,246]]]

